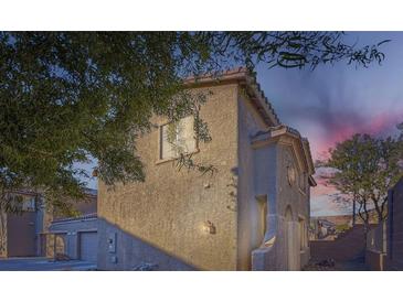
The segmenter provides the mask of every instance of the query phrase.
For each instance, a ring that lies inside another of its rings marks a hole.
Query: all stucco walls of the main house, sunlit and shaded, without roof
[[[299,159],[304,154],[291,148],[293,139],[286,136],[263,148],[253,147],[251,138],[267,125],[248,97],[236,84],[209,90],[212,95],[201,115],[213,140],[201,143],[193,159],[213,164],[218,174],[201,176],[179,172],[172,162],[157,163],[159,131],[140,138],[137,145],[146,182],[118,185],[115,191],[99,182],[100,269],[130,269],[141,259],[159,269],[203,270],[287,270],[289,262],[291,269],[299,269],[308,261],[309,248],[299,250],[298,219],[304,218],[306,226],[309,223],[309,188],[303,194],[287,179],[290,162],[298,177],[296,153]],[[256,196],[262,195],[268,205],[265,241],[274,238],[269,240],[274,244],[262,249],[254,266],[252,255],[262,244]],[[208,220],[216,234],[205,231]],[[117,251],[112,254],[106,244],[110,233],[117,234]]]

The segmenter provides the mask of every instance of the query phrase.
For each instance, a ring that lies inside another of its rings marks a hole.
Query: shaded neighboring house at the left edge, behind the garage
[[[54,257],[64,254],[64,242],[50,233],[52,220],[62,218],[56,211],[45,208],[43,196],[30,190],[13,192],[22,197],[18,214],[3,214],[0,228],[0,256],[2,257]],[[72,201],[82,214],[96,213],[96,191],[87,190],[85,201]]]

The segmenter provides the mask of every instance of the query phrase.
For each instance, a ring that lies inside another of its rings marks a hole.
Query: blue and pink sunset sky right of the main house
[[[382,45],[386,56],[382,65],[369,68],[340,62],[314,72],[257,69],[280,121],[309,139],[314,160],[356,132],[392,134],[403,121],[403,33],[348,33],[347,39],[358,45],[392,41]],[[320,184],[312,190],[312,216],[349,213],[332,203],[329,194],[331,190]]]

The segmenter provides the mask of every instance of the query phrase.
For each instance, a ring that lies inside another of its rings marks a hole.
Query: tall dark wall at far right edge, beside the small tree
[[[388,270],[403,270],[403,179],[388,196],[386,265]]]

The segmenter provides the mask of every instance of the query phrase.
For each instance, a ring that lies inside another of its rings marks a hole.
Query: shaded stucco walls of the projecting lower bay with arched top
[[[300,249],[298,226],[300,219],[306,222],[306,226],[309,222],[309,190],[303,193],[299,188],[298,175],[303,170],[299,170],[289,143],[283,138],[254,150],[255,195],[267,195],[265,240],[272,239],[269,247],[252,250],[254,270],[299,270],[309,260],[309,248]],[[288,166],[297,171],[296,181],[291,184]],[[251,203],[255,202],[253,196],[250,198]]]

